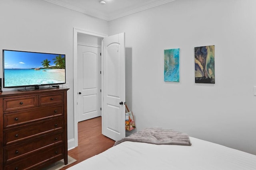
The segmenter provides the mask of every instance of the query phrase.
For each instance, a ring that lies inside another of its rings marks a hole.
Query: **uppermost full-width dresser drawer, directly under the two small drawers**
[[[4,128],[14,127],[32,121],[39,121],[46,118],[53,118],[64,114],[63,105],[41,107],[29,111],[19,111],[4,114]]]

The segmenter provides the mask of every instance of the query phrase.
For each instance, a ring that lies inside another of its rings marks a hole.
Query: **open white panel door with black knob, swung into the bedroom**
[[[117,141],[125,137],[124,33],[103,40],[102,134]]]

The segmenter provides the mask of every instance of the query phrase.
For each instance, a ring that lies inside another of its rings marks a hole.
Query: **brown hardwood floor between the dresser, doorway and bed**
[[[68,151],[68,155],[77,161],[61,170],[99,154],[114,145],[114,140],[102,135],[101,128],[101,116],[78,123],[78,147]]]

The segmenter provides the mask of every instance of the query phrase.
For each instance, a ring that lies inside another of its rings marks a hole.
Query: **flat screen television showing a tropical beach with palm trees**
[[[64,54],[3,49],[3,87],[32,90],[26,87],[65,84],[65,63]]]

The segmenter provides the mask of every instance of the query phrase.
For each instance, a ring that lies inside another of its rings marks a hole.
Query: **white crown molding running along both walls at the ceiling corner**
[[[153,8],[153,7],[156,7],[156,6],[160,6],[160,5],[163,5],[163,4],[166,4],[168,2],[172,2],[172,1],[175,1],[175,0],[161,0],[161,1],[158,1],[158,2],[154,2],[154,3],[150,3],[146,6],[143,6],[141,8],[137,8],[135,10],[130,10],[128,12],[122,12],[120,14],[115,14],[115,15],[112,15],[112,16],[106,16],[104,14],[99,14],[99,12],[97,13],[94,13],[94,12],[90,12],[90,11],[87,11],[87,10],[84,10],[82,8],[78,8],[76,6],[72,6],[72,5],[69,5],[69,4],[66,4],[66,3],[63,3],[63,2],[60,2],[58,0],[44,0],[46,2],[50,2],[52,4],[56,4],[58,6],[62,6],[64,8],[68,8],[70,10],[74,10],[74,11],[77,11],[77,12],[80,12],[80,13],[83,13],[83,14],[86,14],[86,15],[89,15],[89,16],[94,16],[96,18],[100,18],[102,20],[106,20],[106,21],[111,21],[111,20],[115,20],[117,18],[121,18],[121,17],[124,17],[124,16],[128,16],[130,14],[134,14],[136,12],[140,12],[140,11],[143,11],[143,10],[147,10],[149,8]]]

